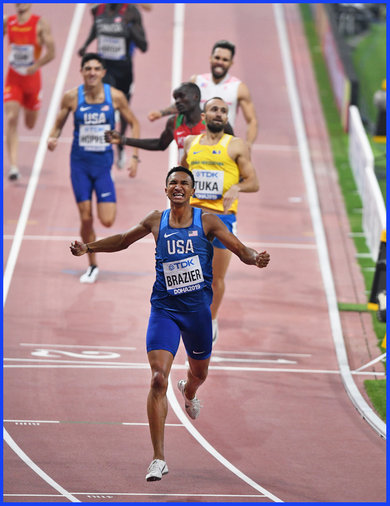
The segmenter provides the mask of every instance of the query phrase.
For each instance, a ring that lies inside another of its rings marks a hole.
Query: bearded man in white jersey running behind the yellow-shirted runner
[[[213,46],[210,56],[210,70],[208,74],[195,74],[190,81],[196,83],[201,91],[201,102],[205,103],[213,97],[221,97],[229,105],[229,123],[234,127],[238,108],[244,115],[246,127],[246,141],[248,146],[257,137],[257,118],[254,104],[248,86],[237,77],[228,74],[233,65],[235,46],[227,40],[220,40]],[[175,105],[148,114],[150,121],[175,113]]]

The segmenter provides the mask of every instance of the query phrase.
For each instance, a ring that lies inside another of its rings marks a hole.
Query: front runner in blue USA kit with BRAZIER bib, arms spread
[[[168,376],[182,336],[188,356],[187,379],[178,382],[188,415],[199,415],[196,391],[205,381],[212,350],[210,303],[212,299],[211,241],[217,237],[239,259],[266,267],[270,256],[245,246],[212,213],[190,206],[194,177],[184,167],[168,172],[165,193],[170,209],[152,211],[123,234],[83,244],[72,242],[73,255],[114,252],[128,248],[152,233],[156,241],[156,281],[151,296],[151,313],[146,335],[152,380],[147,401],[153,460],[147,481],[161,480],[168,473],[164,457],[164,427],[168,411]]]

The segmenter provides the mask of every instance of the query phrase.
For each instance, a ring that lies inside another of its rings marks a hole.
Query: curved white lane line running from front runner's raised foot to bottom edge
[[[256,483],[254,480],[249,478],[246,474],[244,474],[242,471],[240,471],[236,466],[234,466],[231,462],[229,462],[223,455],[221,455],[203,436],[202,434],[195,429],[195,427],[192,425],[192,423],[189,421],[187,416],[185,415],[184,411],[182,410],[181,406],[179,405],[176,396],[173,392],[172,388],[172,380],[171,376],[168,378],[168,391],[167,391],[167,397],[169,404],[171,405],[173,411],[175,412],[178,419],[181,421],[181,423],[185,426],[185,428],[188,430],[188,432],[193,436],[196,441],[203,446],[203,448],[210,453],[215,459],[217,459],[223,466],[225,466],[229,471],[231,471],[233,474],[238,476],[241,480],[243,480],[245,483],[247,483],[249,486],[257,490],[258,492],[261,492],[264,494],[265,497],[268,497],[274,502],[283,502],[281,499],[276,497],[276,495],[272,494],[268,490],[266,490],[264,487]]]

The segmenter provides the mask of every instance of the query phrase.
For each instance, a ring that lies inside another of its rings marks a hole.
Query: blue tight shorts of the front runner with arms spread
[[[213,345],[210,307],[183,313],[152,306],[146,333],[148,353],[152,350],[166,350],[175,356],[180,334],[189,357],[195,360],[209,358]]]

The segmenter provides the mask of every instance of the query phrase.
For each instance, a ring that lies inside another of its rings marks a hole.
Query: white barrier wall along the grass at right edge
[[[362,199],[367,246],[376,262],[381,233],[386,229],[386,207],[374,172],[374,155],[355,105],[349,107],[349,162]]]

